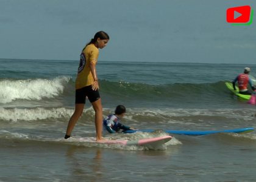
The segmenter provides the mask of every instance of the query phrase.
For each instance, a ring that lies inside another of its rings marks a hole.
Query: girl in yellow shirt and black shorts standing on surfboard
[[[69,138],[76,125],[77,120],[83,113],[86,97],[93,105],[95,112],[96,140],[102,140],[102,104],[99,95],[99,83],[96,73],[96,64],[99,55],[99,49],[107,46],[109,36],[100,31],[94,35],[94,38],[85,45],[80,55],[80,63],[76,78],[76,107],[73,115],[69,119],[66,129],[65,139]]]

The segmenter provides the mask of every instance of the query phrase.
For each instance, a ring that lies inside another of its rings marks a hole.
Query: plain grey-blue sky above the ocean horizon
[[[256,10],[255,0],[0,0],[0,58],[78,60],[104,30],[99,60],[255,64],[255,16],[226,22],[240,5]]]

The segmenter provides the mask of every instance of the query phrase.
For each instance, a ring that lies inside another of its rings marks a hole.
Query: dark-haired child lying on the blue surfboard
[[[137,130],[133,127],[124,126],[120,123],[120,120],[124,117],[126,113],[126,107],[118,105],[115,110],[115,114],[108,115],[107,118],[103,120],[103,126],[109,133],[117,133],[126,130]]]

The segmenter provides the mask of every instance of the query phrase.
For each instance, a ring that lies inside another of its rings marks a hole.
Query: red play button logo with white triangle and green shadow
[[[227,22],[249,25],[252,23],[253,10],[249,5],[227,9]]]

